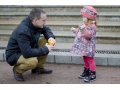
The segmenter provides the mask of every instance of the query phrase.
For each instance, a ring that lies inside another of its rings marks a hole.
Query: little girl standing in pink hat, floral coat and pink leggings
[[[76,35],[71,52],[83,57],[84,71],[79,78],[89,82],[96,79],[94,55],[97,11],[92,6],[84,6],[80,13],[83,17],[83,24],[77,28],[71,28]]]

